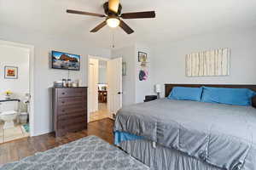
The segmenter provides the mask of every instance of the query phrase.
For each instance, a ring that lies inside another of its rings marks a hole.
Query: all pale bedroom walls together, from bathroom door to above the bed
[[[67,71],[49,69],[49,52],[52,49],[71,54],[81,54],[81,71],[71,71],[72,79],[81,79],[87,85],[87,55],[110,57],[109,49],[91,47],[86,39],[65,39],[38,31],[22,31],[20,28],[0,26],[0,39],[31,44],[35,47],[35,134],[52,131],[52,109],[49,88],[56,80],[67,77]],[[65,35],[64,35],[65,36]],[[113,57],[127,61],[127,76],[123,77],[124,105],[142,101],[155,83],[256,83],[256,32],[223,31],[204,36],[191,37],[180,42],[163,42],[150,50],[141,45],[113,50]],[[185,77],[185,55],[212,48],[231,48],[231,71],[229,77]],[[150,56],[151,85],[144,86],[137,77],[137,51],[148,51]],[[149,52],[150,51],[150,52]],[[147,89],[144,91],[144,88]],[[149,91],[148,91],[149,90]]]

